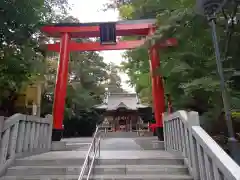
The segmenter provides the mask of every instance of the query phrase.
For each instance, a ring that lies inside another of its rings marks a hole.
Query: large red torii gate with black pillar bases
[[[68,61],[71,51],[103,51],[134,49],[144,44],[145,39],[119,41],[111,44],[101,42],[77,43],[71,38],[101,37],[101,25],[108,23],[64,23],[52,24],[42,27],[42,32],[50,37],[60,38],[60,43],[48,44],[49,51],[60,52],[58,73],[53,104],[53,140],[60,140],[63,131],[63,115],[68,79]],[[113,24],[111,22],[111,24]],[[114,22],[114,36],[151,36],[156,30],[155,20],[132,20]],[[155,127],[162,131],[162,113],[165,111],[164,86],[162,77],[154,75],[160,66],[159,48],[175,46],[176,39],[171,38],[165,42],[153,45],[149,49],[149,63],[152,74],[152,95],[154,100]]]

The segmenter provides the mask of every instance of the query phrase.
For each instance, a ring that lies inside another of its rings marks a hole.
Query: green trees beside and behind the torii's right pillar
[[[117,8],[123,19],[156,18],[158,29],[150,38],[152,41],[177,38],[177,47],[159,50],[161,67],[157,73],[165,78],[165,93],[170,94],[174,109],[198,111],[202,115],[201,122],[205,128],[209,128],[211,120],[219,120],[223,106],[211,29],[207,20],[194,12],[194,3],[191,0],[118,0],[111,1],[107,8]],[[217,30],[224,76],[231,109],[239,109],[240,64],[237,47],[240,42],[240,26],[235,26],[235,33],[226,53],[226,24],[222,19],[224,18],[217,19]],[[147,48],[127,51],[125,58],[127,61],[122,63],[122,69],[129,75],[129,83],[136,87],[143,101],[151,103]],[[225,126],[222,124],[222,127]]]

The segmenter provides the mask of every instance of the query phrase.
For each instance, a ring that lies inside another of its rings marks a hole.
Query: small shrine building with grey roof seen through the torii
[[[104,117],[102,126],[107,127],[108,131],[126,132],[147,128],[141,114],[151,111],[151,107],[140,103],[136,93],[108,92],[103,103],[94,108],[101,111]]]

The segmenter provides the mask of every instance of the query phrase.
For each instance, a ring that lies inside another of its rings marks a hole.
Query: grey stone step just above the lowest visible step
[[[78,175],[79,166],[16,166],[9,168],[6,176],[33,175]],[[183,165],[97,165],[93,174],[137,175],[137,174],[171,174],[188,175],[188,169]]]

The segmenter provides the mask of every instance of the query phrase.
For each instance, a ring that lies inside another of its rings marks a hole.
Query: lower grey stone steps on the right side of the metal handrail
[[[125,159],[100,159],[92,172],[92,179],[127,180],[190,180],[182,158],[174,156]]]

